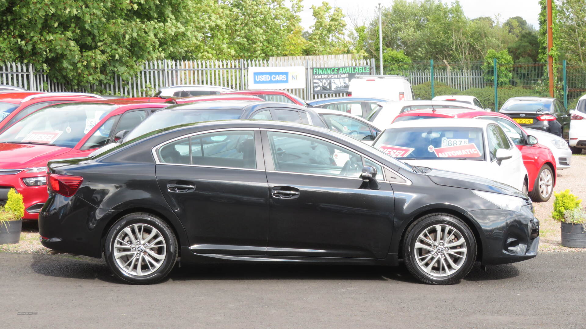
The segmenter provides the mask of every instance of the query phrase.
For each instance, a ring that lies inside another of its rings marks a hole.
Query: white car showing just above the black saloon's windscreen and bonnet
[[[322,118],[326,126],[333,131],[341,132],[352,138],[372,145],[382,129],[376,128],[372,122],[366,121],[357,115],[334,109],[312,108]]]

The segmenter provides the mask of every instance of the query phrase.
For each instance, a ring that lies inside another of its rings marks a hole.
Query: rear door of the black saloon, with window
[[[156,179],[195,253],[264,255],[268,187],[258,129],[221,129],[154,149]]]

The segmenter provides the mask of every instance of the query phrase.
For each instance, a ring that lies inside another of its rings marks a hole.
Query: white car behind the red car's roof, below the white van
[[[414,111],[416,109],[468,109],[469,111],[486,111],[475,105],[457,103],[451,101],[399,101],[399,102],[384,102],[379,103],[379,107],[374,108],[366,119],[379,127],[389,126],[397,115]]]

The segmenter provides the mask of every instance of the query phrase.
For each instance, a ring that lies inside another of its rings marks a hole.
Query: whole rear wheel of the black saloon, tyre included
[[[124,282],[149,285],[164,279],[177,261],[177,238],[169,225],[154,215],[132,213],[112,225],[104,256],[108,267]]]

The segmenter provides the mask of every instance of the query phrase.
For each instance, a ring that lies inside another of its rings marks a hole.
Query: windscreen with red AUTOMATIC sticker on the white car
[[[374,148],[401,160],[484,160],[481,128],[389,128]]]

